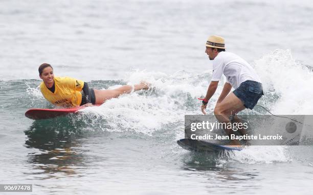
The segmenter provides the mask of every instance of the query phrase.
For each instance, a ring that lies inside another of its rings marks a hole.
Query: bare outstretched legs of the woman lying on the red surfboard
[[[132,89],[134,91],[138,91],[142,89],[149,89],[149,86],[147,83],[142,82],[140,84],[134,85],[133,87],[131,85],[124,85],[117,89],[106,89],[106,90],[94,89],[96,96],[96,104],[103,104],[106,100],[116,98],[124,93],[130,93]]]

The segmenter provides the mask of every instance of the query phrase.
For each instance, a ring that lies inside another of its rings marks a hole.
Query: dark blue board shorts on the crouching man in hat
[[[256,81],[244,81],[233,93],[243,102],[243,106],[253,109],[263,93],[262,83]]]

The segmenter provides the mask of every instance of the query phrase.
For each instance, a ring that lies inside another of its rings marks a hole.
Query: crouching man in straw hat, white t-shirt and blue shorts
[[[213,62],[213,74],[206,97],[202,101],[201,111],[206,114],[208,102],[217,89],[222,75],[226,83],[214,108],[214,115],[219,123],[231,123],[230,116],[234,116],[245,108],[253,109],[263,94],[262,83],[252,66],[237,56],[226,52],[225,40],[212,35],[206,42],[206,54]],[[230,92],[232,87],[235,89]],[[236,117],[238,120],[238,117]],[[233,130],[225,129],[231,136]],[[241,145],[236,139],[231,139],[229,145]]]

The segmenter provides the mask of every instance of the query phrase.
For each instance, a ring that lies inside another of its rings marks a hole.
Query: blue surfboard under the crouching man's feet
[[[177,144],[183,149],[190,151],[205,151],[205,152],[218,152],[218,151],[241,151],[242,147],[229,147],[227,145],[218,145],[210,143],[208,141],[202,141],[197,139],[180,139],[177,140]]]

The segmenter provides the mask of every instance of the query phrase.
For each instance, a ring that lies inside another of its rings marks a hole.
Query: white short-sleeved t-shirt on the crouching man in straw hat
[[[230,83],[235,89],[247,80],[261,83],[259,76],[251,65],[230,52],[219,52],[214,58],[211,81],[219,81],[223,74],[226,77],[226,82]]]

